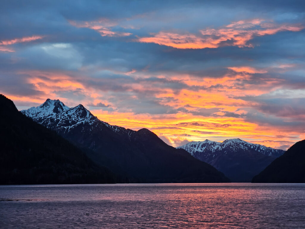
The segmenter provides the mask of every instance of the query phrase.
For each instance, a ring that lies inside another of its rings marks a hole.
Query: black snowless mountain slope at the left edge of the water
[[[56,110],[56,108],[54,108]],[[0,184],[115,183],[116,176],[93,163],[56,132],[20,113],[0,94]]]

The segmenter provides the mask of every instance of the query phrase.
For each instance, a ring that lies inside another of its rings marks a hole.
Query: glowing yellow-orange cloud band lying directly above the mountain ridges
[[[204,117],[187,113],[149,115],[103,110],[91,110],[91,112],[111,125],[135,130],[148,128],[158,136],[165,137],[174,147],[179,146],[179,142],[184,140],[202,141],[206,138],[223,141],[228,137],[238,137],[269,147],[281,147],[284,143],[289,147],[298,140],[292,140],[290,136],[287,136],[285,129],[271,126],[261,128],[257,124],[246,122],[243,118]],[[300,135],[297,132],[291,132],[291,134]],[[278,135],[282,136],[278,137]]]

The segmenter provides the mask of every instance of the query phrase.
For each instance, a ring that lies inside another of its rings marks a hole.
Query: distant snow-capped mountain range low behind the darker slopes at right
[[[192,141],[177,148],[185,149],[193,157],[213,165],[233,182],[251,182],[253,176],[285,152],[239,138],[222,143],[207,139]]]

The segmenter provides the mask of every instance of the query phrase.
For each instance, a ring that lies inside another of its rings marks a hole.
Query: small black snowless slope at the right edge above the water
[[[275,159],[254,183],[305,183],[305,140],[292,145],[282,156]]]

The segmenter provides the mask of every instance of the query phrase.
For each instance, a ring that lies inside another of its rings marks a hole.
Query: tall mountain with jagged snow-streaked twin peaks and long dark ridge
[[[59,100],[47,99],[21,112],[81,147],[94,162],[120,174],[126,182],[229,181],[213,166],[167,145],[148,129],[109,125],[81,104],[69,108]]]

